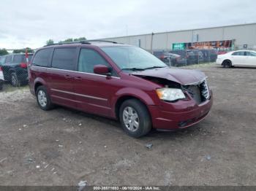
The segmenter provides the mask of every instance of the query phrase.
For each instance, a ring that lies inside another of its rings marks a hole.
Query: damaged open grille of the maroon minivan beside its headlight
[[[195,85],[185,85],[184,89],[194,98],[197,104],[203,103],[210,97],[206,80]]]

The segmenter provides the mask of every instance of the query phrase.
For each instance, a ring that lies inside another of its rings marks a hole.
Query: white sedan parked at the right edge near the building
[[[256,51],[238,50],[227,52],[225,55],[218,55],[217,64],[223,67],[232,66],[255,66],[256,67]]]

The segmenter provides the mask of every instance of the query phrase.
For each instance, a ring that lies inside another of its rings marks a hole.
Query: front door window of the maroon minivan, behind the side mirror
[[[94,73],[95,65],[109,66],[108,62],[98,52],[90,49],[82,49],[79,56],[78,71]]]

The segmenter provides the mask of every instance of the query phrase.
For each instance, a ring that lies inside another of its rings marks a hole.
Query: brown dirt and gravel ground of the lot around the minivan
[[[43,112],[26,89],[0,93],[0,184],[256,185],[256,69],[200,70],[214,91],[206,120],[142,139],[102,117]]]

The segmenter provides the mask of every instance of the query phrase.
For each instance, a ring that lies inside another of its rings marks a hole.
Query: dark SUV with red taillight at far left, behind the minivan
[[[31,57],[32,54],[29,54],[29,61]],[[4,55],[2,60],[1,69],[7,82],[15,87],[29,82],[25,54]]]

